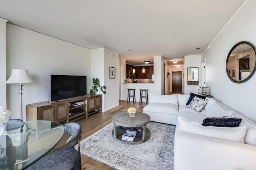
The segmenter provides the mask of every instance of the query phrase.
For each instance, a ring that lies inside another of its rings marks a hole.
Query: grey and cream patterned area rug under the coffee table
[[[138,145],[112,138],[113,123],[80,142],[80,152],[119,170],[172,170],[175,125],[150,122],[151,136]]]

